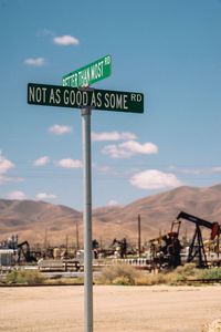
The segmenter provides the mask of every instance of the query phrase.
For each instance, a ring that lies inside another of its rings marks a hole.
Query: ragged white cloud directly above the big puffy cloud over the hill
[[[129,158],[137,154],[157,154],[158,147],[150,142],[140,144],[136,141],[127,141],[118,145],[107,145],[102,152],[105,155],[109,155],[110,158],[117,159]]]

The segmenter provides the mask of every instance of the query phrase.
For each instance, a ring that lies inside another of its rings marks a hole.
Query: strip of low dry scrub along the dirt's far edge
[[[103,269],[99,277],[95,279],[96,284],[119,286],[154,286],[154,284],[198,284],[203,281],[221,279],[221,268],[199,270],[193,263],[178,267],[170,272],[150,273],[136,270],[128,264],[116,264]],[[12,270],[4,279],[6,284],[83,284],[83,278],[56,278],[49,279],[38,270]]]

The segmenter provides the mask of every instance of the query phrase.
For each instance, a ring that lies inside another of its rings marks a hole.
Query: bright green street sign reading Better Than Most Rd
[[[104,80],[112,74],[112,56],[101,58],[78,70],[62,77],[63,86],[86,87],[97,81]]]

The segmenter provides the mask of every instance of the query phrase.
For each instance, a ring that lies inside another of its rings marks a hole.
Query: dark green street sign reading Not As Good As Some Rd
[[[28,84],[28,103],[59,106],[144,113],[144,94],[138,92],[76,89],[48,84]]]

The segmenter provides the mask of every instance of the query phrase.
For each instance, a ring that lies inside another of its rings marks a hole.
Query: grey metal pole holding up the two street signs
[[[93,332],[91,108],[82,110],[84,181],[84,331]]]

